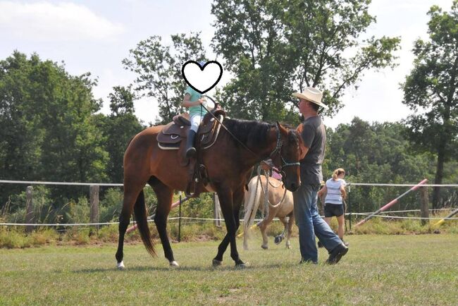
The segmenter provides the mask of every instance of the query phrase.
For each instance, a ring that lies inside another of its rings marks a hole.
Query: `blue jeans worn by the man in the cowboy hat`
[[[301,185],[298,190],[292,192],[302,260],[314,263],[318,262],[315,235],[329,252],[342,243],[338,235],[335,235],[318,214],[316,195],[319,187],[319,185]]]

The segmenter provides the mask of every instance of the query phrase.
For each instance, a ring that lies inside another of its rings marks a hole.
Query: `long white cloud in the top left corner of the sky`
[[[111,40],[123,25],[72,3],[0,1],[0,36],[35,42]]]

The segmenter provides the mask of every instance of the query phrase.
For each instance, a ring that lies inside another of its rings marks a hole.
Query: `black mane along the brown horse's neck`
[[[253,146],[264,145],[267,141],[268,130],[275,127],[273,123],[228,118],[224,120],[223,124],[244,145]]]

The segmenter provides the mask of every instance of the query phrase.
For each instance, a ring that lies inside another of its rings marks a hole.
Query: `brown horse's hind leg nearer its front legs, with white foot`
[[[172,267],[178,267],[178,262],[175,262],[173,258],[172,247],[167,235],[167,217],[171,211],[173,190],[157,178],[150,178],[148,183],[154,192],[156,192],[157,209],[154,216],[154,223],[161,238],[164,255]]]

